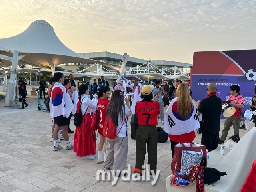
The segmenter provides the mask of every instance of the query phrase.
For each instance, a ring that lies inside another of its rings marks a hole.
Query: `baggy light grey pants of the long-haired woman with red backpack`
[[[128,153],[128,136],[108,139],[106,143],[106,160],[104,166],[110,168],[113,164],[114,172],[124,170]]]

